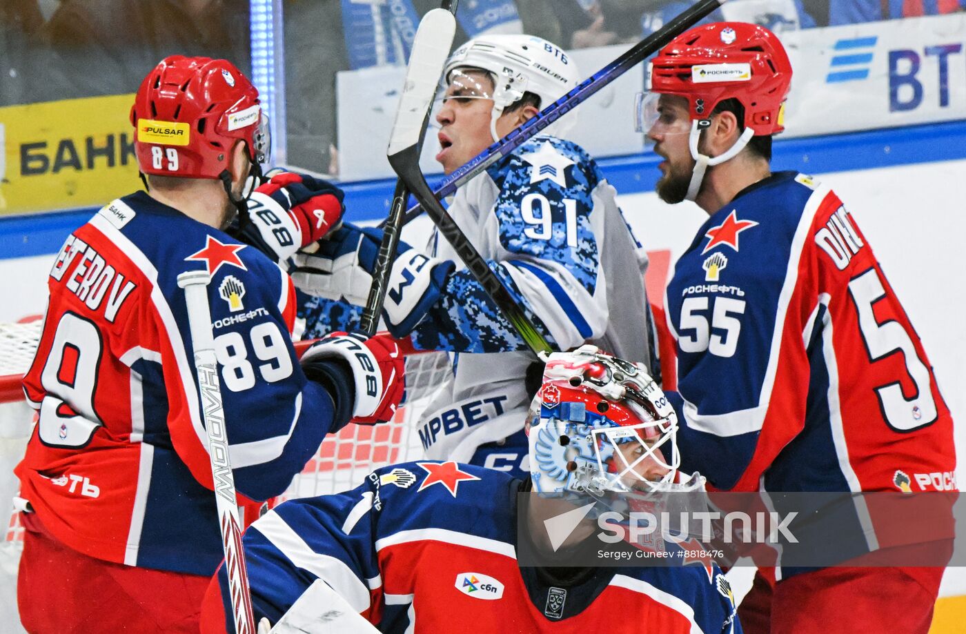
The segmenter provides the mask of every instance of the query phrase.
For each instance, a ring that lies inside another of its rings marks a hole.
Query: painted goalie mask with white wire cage
[[[527,418],[530,475],[540,493],[687,492],[677,417],[643,365],[585,345],[551,355]]]

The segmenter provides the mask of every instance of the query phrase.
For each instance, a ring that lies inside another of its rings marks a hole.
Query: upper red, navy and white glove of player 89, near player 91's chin
[[[325,236],[346,208],[342,189],[304,174],[280,172],[248,198],[242,240],[281,262]]]

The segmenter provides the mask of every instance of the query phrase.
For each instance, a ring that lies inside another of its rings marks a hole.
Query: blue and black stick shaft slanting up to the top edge
[[[509,134],[498,140],[486,150],[476,155],[474,158],[458,168],[452,174],[443,179],[440,187],[433,192],[437,200],[442,200],[446,196],[456,191],[458,187],[468,183],[487,167],[506,157],[529,139],[535,136],[540,130],[546,129],[554,121],[564,114],[576,108],[583,101],[597,93],[601,88],[607,86],[611,81],[624,74],[624,72],[637,66],[640,62],[656,53],[671,40],[681,35],[689,28],[694,26],[702,18],[711,14],[727,0],[701,0],[690,9],[678,14],[663,27],[647,36],[626,53],[612,61],[598,72],[584,79],[580,85],[569,93],[554,101],[539,114],[523,124],[520,128],[511,131]],[[418,158],[418,157],[417,157]],[[418,199],[417,199],[418,200]],[[424,207],[422,202],[412,207],[406,212],[403,225],[408,224],[412,218],[422,214]],[[440,227],[441,230],[441,227]]]

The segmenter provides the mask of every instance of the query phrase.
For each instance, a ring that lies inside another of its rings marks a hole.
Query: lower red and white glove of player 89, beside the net
[[[405,358],[396,342],[385,334],[332,332],[302,355],[301,363],[343,360],[355,379],[351,422],[374,424],[390,420],[403,398]]]

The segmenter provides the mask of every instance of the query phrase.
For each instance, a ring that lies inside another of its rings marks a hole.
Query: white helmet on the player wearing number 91
[[[453,71],[470,67],[489,72],[494,83],[493,117],[490,132],[498,141],[497,119],[503,109],[520,101],[524,93],[540,98],[545,108],[569,93],[580,81],[577,64],[553,43],[529,35],[489,35],[463,44],[446,61],[442,72],[444,87]],[[562,136],[576,123],[577,115],[568,112],[550,126],[548,133]]]

